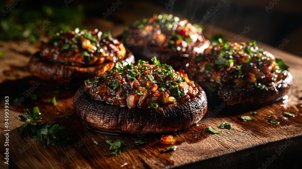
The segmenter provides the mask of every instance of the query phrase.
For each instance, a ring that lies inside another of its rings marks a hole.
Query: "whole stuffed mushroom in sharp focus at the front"
[[[202,88],[183,70],[138,60],[119,62],[85,81],[73,98],[84,123],[111,133],[174,132],[196,124],[207,111]]]

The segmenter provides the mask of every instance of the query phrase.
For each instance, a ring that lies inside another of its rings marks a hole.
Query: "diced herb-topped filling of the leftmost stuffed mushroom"
[[[43,59],[79,67],[116,62],[123,60],[125,54],[123,43],[97,29],[60,31],[40,46]]]

